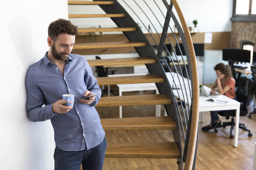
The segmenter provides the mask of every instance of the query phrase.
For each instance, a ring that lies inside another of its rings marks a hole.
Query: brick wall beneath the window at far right
[[[233,21],[230,36],[230,48],[242,48],[243,41],[254,43],[256,51],[256,22],[252,21]]]

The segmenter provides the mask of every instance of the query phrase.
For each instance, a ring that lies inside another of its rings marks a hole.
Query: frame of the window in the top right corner
[[[236,0],[233,0],[233,13],[231,21],[256,21],[256,14],[252,14],[252,0],[249,0],[249,14],[236,14]],[[256,0],[253,0],[256,1]]]

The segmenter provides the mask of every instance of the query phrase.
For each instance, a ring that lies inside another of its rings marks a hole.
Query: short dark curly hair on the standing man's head
[[[65,19],[58,19],[51,22],[48,27],[48,36],[51,37],[53,41],[56,41],[61,33],[77,36],[77,27]]]

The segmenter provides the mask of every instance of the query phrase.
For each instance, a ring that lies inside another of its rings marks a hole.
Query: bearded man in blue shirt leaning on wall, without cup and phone
[[[55,170],[78,170],[81,163],[83,169],[102,169],[107,142],[94,107],[101,89],[85,58],[70,54],[77,28],[59,19],[49,25],[48,35],[49,52],[30,66],[26,76],[28,117],[33,122],[51,120]],[[64,94],[75,95],[73,107],[64,105]]]

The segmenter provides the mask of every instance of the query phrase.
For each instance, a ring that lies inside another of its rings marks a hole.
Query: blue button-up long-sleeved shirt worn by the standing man
[[[64,74],[44,57],[29,67],[26,76],[27,113],[33,122],[51,120],[55,144],[62,150],[91,149],[102,142],[105,131],[95,109],[101,89],[93,77],[91,67],[81,55],[70,54]],[[84,92],[96,94],[91,105],[79,102]],[[66,114],[52,111],[52,104],[64,94],[74,94],[74,107]]]

